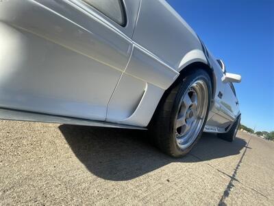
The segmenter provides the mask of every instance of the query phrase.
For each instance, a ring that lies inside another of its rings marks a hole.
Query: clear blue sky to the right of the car
[[[274,1],[166,0],[225,62],[234,83],[241,123],[274,130]]]

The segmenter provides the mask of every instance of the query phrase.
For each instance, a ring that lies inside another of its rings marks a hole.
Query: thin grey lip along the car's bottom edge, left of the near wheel
[[[0,108],[0,119],[28,121],[28,122],[47,122],[59,124],[73,124],[83,126],[99,126],[110,128],[129,128],[138,130],[147,130],[147,128],[130,126],[125,124],[114,124],[109,122],[92,121],[89,119],[79,119],[74,117],[62,117],[56,115],[47,115],[43,113],[32,113],[28,111],[19,111],[10,108]]]

